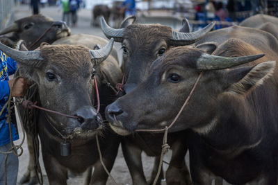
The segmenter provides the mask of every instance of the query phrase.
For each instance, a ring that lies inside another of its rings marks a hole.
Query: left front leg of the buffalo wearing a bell
[[[47,171],[47,178],[50,185],[66,185],[67,169],[59,164],[59,162],[48,154],[42,152],[44,168]]]

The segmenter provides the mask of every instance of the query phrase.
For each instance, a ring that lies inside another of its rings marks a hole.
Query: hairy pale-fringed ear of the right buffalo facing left
[[[246,94],[270,78],[275,66],[276,62],[270,61],[257,64],[255,67],[241,67],[226,71],[227,87],[224,89],[233,94]]]

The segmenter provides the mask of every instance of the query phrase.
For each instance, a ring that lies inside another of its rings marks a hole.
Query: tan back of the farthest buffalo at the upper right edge
[[[258,28],[271,33],[278,39],[278,18],[271,15],[257,14],[242,21],[240,26]]]

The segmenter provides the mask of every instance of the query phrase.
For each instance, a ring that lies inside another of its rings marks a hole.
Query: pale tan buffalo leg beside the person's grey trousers
[[[26,173],[24,173],[23,177],[20,179],[19,184],[24,184],[28,182],[28,185],[33,185],[38,183],[38,177],[35,173],[35,153],[34,153],[34,145],[33,145],[33,136],[31,134],[26,134],[27,146],[29,152],[29,162]],[[34,140],[36,144],[39,146],[38,139]],[[39,154],[39,151],[36,151]]]

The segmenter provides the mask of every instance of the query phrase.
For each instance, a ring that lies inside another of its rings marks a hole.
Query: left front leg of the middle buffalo
[[[129,168],[129,173],[131,173],[133,185],[147,184],[142,166],[142,150],[134,146],[132,143],[129,143],[127,139],[124,139],[122,142],[122,152],[126,165]]]

